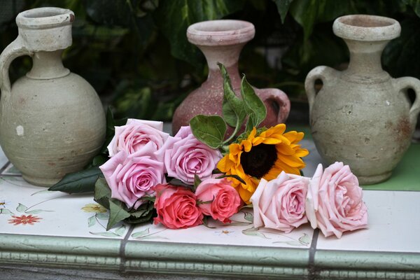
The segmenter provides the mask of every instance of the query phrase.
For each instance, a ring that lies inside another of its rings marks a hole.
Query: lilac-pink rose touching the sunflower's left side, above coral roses
[[[209,148],[193,135],[190,127],[181,127],[179,132],[170,137],[161,151],[165,151],[165,169],[168,176],[180,179],[184,183],[194,183],[194,175],[200,179],[211,178],[221,153]]]

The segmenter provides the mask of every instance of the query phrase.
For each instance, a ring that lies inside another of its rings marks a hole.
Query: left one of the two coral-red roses
[[[191,190],[171,185],[158,185],[155,209],[158,217],[155,225],[162,223],[167,228],[190,228],[203,223],[203,214],[197,207],[196,197]]]

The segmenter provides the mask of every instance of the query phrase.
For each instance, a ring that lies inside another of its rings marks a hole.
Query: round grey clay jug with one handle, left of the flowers
[[[23,178],[38,186],[83,169],[105,138],[97,93],[62,64],[73,20],[63,8],[26,10],[16,18],[18,38],[0,55],[1,148]],[[21,55],[32,57],[32,69],[10,86],[10,63]]]

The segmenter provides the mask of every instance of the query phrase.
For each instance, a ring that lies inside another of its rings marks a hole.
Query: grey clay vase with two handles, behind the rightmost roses
[[[336,36],[350,50],[349,67],[312,69],[305,80],[311,133],[321,157],[342,161],[361,184],[385,181],[409,147],[420,111],[420,80],[391,78],[381,67],[388,41],[400,24],[373,15],[346,15],[335,20]],[[314,83],[322,81],[316,93]],[[414,104],[407,89],[416,92]]]

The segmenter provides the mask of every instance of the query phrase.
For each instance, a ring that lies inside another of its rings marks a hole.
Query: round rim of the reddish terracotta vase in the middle
[[[187,37],[195,45],[235,45],[251,41],[255,27],[244,20],[207,20],[190,25]]]

